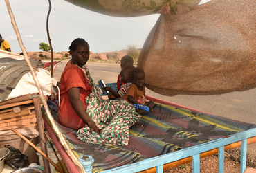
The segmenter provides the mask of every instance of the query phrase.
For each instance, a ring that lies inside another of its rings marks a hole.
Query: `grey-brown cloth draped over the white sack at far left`
[[[30,63],[35,68],[44,66],[41,60],[31,59]],[[25,60],[15,60],[10,57],[0,58],[0,100],[5,101],[21,77],[30,71],[25,64],[27,64]]]

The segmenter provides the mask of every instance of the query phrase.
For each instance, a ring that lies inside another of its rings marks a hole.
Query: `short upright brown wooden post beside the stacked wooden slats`
[[[39,98],[33,98],[33,103],[34,103],[34,107],[35,107],[35,115],[37,116],[37,127],[38,127],[38,131],[39,131],[40,146],[41,146],[42,152],[44,152],[44,154],[46,156],[48,156],[46,140],[45,140],[45,136],[44,136],[44,125],[43,125],[43,119],[42,119],[42,111],[41,111],[41,107],[40,107]],[[50,164],[45,157],[43,157],[43,163],[44,163],[44,172],[51,172]]]

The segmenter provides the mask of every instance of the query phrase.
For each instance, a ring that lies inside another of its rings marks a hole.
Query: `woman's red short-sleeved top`
[[[91,85],[86,79],[82,69],[75,64],[68,64],[60,78],[60,107],[58,108],[59,122],[65,127],[78,130],[84,127],[85,123],[77,113],[75,113],[75,110],[69,102],[68,89],[73,87],[80,88],[80,100],[82,100],[84,109],[86,109],[85,98],[91,93]]]

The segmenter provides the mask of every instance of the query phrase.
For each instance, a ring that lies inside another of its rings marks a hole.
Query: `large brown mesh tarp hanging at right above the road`
[[[256,1],[212,0],[183,15],[161,15],[138,66],[163,95],[212,95],[256,86]]]

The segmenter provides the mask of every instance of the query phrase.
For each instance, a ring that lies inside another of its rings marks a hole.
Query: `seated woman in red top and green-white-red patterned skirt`
[[[91,144],[128,145],[129,127],[140,115],[125,101],[103,100],[86,67],[89,44],[75,39],[72,59],[60,79],[59,122],[77,131],[80,140]]]

